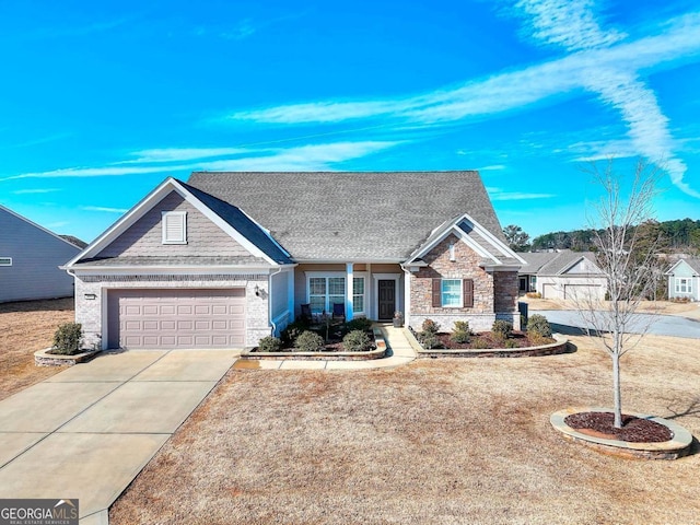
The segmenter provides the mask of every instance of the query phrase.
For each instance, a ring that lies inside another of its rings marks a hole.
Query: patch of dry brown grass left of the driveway
[[[0,399],[60,372],[35,366],[34,352],[48,348],[61,323],[73,320],[73,299],[0,304]]]

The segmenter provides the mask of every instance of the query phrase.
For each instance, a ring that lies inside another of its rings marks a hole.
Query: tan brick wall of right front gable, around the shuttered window
[[[454,245],[454,260],[450,246]],[[517,271],[489,272],[479,266],[481,257],[455,235],[448,235],[423,257],[428,267],[410,277],[410,326],[420,330],[423,320],[431,318],[451,330],[455,320],[468,320],[471,329],[490,330],[493,322],[506,319],[520,328],[517,314]],[[471,307],[433,307],[433,279],[471,279]]]

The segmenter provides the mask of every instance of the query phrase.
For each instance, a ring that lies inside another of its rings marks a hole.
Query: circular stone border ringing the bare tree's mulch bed
[[[625,413],[635,418],[649,419],[658,424],[663,424],[673,432],[672,440],[662,443],[632,443],[619,440],[607,440],[584,434],[576,429],[572,429],[564,422],[564,419],[573,413],[611,411],[610,408],[600,407],[570,407],[552,413],[549,422],[556,430],[561,432],[567,440],[582,443],[598,452],[615,456],[639,459],[678,459],[690,453],[692,434],[679,424],[655,416],[625,411]]]

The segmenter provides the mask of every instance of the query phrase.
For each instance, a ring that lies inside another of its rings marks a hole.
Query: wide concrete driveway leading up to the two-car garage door
[[[103,353],[0,401],[0,498],[107,510],[211,392],[233,350]]]

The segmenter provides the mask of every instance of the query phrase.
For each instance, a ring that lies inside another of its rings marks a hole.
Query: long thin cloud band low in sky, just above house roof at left
[[[360,159],[380,151],[404,143],[402,141],[346,141],[325,144],[307,144],[293,148],[276,149],[228,149],[229,153],[236,153],[235,159],[219,159],[197,163],[170,164],[153,159],[185,160],[219,155],[202,155],[202,151],[219,151],[224,149],[184,149],[184,150],[141,150],[151,152],[142,155],[150,165],[124,166],[121,161],[115,165],[98,167],[70,167],[51,170],[48,172],[32,172],[0,178],[13,180],[20,178],[80,178],[80,177],[107,177],[144,175],[153,173],[188,172],[196,170],[207,171],[332,171],[343,162]],[[178,155],[176,152],[190,152]],[[158,152],[158,153],[153,153]],[[168,153],[165,153],[168,152]],[[195,154],[194,152],[199,152]]]

